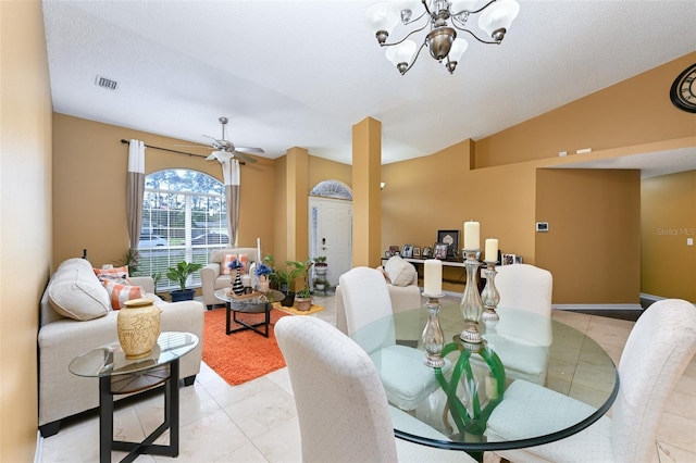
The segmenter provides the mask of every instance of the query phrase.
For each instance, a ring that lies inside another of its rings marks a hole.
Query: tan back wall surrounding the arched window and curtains
[[[121,139],[138,139],[146,145],[174,150],[190,142],[101,124],[64,114],[53,115],[53,260],[80,256],[87,249],[94,265],[117,263],[128,249],[125,188],[128,146]],[[165,168],[191,168],[222,182],[216,161],[206,161],[207,149],[188,149],[200,157],[146,149],[146,174]],[[273,214],[269,204],[275,197],[275,165],[266,159],[247,163],[240,174],[239,246],[273,252]]]

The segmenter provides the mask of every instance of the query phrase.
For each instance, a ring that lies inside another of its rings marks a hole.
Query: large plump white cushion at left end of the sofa
[[[104,316],[111,308],[107,289],[89,262],[82,260],[83,264],[75,261],[65,261],[51,278],[49,303],[61,315],[78,321]]]

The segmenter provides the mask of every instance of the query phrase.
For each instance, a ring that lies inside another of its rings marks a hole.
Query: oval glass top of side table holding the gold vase
[[[166,365],[187,354],[198,346],[198,336],[191,333],[165,331],[160,334],[150,355],[128,360],[119,342],[91,349],[73,359],[71,373],[77,376],[103,377],[129,375]]]

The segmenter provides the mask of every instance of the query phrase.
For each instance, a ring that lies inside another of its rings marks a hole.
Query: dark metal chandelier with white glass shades
[[[412,9],[399,11],[395,3],[405,5],[417,1],[376,3],[368,10],[366,16],[376,30],[375,37],[380,46],[389,47],[386,51],[387,60],[394,63],[401,75],[413,66],[425,47],[431,57],[444,63],[452,74],[461,55],[469,48],[465,39],[457,37],[457,30],[469,34],[481,43],[499,45],[520,12],[520,4],[515,0],[489,0],[481,8],[476,7],[482,3],[481,0],[421,0],[423,12],[413,18]],[[468,22],[475,15],[478,15],[478,28],[485,34],[485,38],[478,37],[477,33],[468,27]],[[411,26],[413,29],[400,40],[387,43],[387,38],[399,20],[403,26]],[[409,39],[426,29],[427,34],[420,47]]]

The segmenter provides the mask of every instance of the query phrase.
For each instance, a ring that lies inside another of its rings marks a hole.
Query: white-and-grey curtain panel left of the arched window
[[[142,227],[142,195],[145,192],[145,142],[130,140],[126,185],[126,214],[130,249],[138,248]]]

